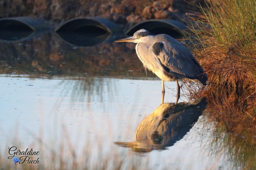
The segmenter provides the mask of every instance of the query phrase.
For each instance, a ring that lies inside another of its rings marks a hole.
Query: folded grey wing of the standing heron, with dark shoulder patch
[[[178,73],[177,78],[198,79],[206,84],[207,74],[185,46],[164,34],[155,36],[155,40],[152,50],[170,73]]]

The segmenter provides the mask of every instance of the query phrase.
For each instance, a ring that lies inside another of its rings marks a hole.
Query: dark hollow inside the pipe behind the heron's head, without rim
[[[139,29],[146,29],[154,34],[167,34],[173,38],[182,37],[182,33],[172,25],[160,21],[144,22],[129,30],[126,34],[132,36]]]

